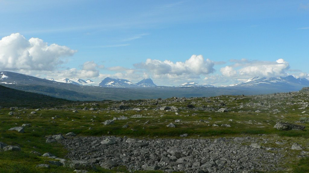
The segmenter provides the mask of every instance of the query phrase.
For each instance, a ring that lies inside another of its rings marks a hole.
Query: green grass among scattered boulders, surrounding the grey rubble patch
[[[309,138],[307,127],[304,131],[279,131],[273,128],[277,121],[294,123],[303,117],[308,117],[303,115],[302,111],[304,110],[298,109],[303,107],[301,104],[303,102],[300,100],[307,102],[308,94],[305,94],[295,94],[290,97],[277,94],[276,96],[279,99],[274,99],[273,95],[268,95],[268,99],[262,96],[218,96],[186,99],[185,102],[173,102],[174,99],[171,98],[159,100],[158,105],[154,105],[156,100],[95,102],[99,104],[98,106],[91,106],[90,103],[93,102],[74,102],[66,105],[57,105],[58,110],[42,109],[36,111],[37,114],[30,114],[31,111],[34,111],[33,109],[19,108],[10,111],[9,108],[2,108],[0,109],[0,142],[8,145],[18,145],[22,151],[0,151],[0,172],[72,172],[73,170],[65,167],[36,168],[37,164],[47,163],[47,159],[30,154],[31,151],[35,150],[41,154],[51,152],[58,157],[64,158],[67,152],[65,148],[57,143],[45,143],[45,140],[48,135],[66,134],[68,132],[74,132],[81,136],[116,135],[120,137],[177,139],[180,138],[179,135],[184,133],[188,134],[187,138],[202,139],[231,138],[236,136],[258,138],[258,135],[266,134],[262,138],[273,140],[273,143],[262,143],[262,146],[285,147],[289,151],[288,153],[291,153],[291,155],[286,155],[286,160],[291,162],[289,164],[282,163],[282,166],[285,167],[283,172],[306,172],[309,169],[308,159],[303,158],[299,160],[297,158],[299,153],[291,151],[290,145],[296,142],[302,144],[303,147],[307,147],[306,141]],[[290,100],[297,104],[287,105],[286,103]],[[229,109],[229,112],[216,112],[216,110],[221,108],[221,106],[218,106],[221,102],[226,104],[225,107]],[[260,102],[263,102],[264,105],[257,104]],[[137,103],[140,103],[140,105],[136,106]],[[150,105],[147,103],[150,103]],[[125,106],[131,108],[138,107],[142,110],[114,111],[113,109],[119,108],[120,104],[125,104]],[[197,109],[187,109],[186,106],[188,104],[193,104]],[[248,104],[251,106],[248,106]],[[184,109],[179,109],[178,115],[173,111],[155,110],[156,107],[165,105],[178,108],[184,107]],[[199,110],[202,106],[208,106],[210,109]],[[98,111],[81,110],[84,107],[95,107]],[[108,107],[111,109],[107,110]],[[145,108],[148,110],[144,110]],[[73,113],[74,109],[79,109],[78,113]],[[274,114],[272,111],[274,109],[278,109],[280,112]],[[293,109],[295,110],[293,111]],[[256,110],[262,112],[256,113],[254,112]],[[14,112],[15,115],[8,115],[9,112]],[[52,119],[56,115],[57,118]],[[142,118],[133,118],[134,115],[142,115]],[[129,119],[116,120],[114,124],[107,126],[101,124],[106,120],[119,116],[126,116]],[[284,118],[281,116],[284,116]],[[209,119],[210,117],[211,119]],[[181,121],[175,123],[176,119],[181,119]],[[209,121],[209,123],[199,122],[200,119]],[[229,121],[230,119],[232,121]],[[144,124],[146,121],[149,121],[149,123]],[[25,133],[7,131],[11,127],[21,126],[24,123],[31,123],[30,127],[25,127]],[[176,128],[166,127],[169,123],[174,123]],[[219,127],[213,127],[213,124],[217,124]],[[230,124],[231,127],[221,127],[222,124]],[[301,125],[308,126],[308,124],[304,123]],[[122,128],[124,125],[129,125],[129,127]],[[89,130],[89,127],[92,130]],[[278,146],[274,144],[275,141],[280,141],[281,139],[287,141],[285,145]],[[299,167],[299,169],[296,167]],[[124,167],[118,167],[114,170],[104,170],[98,167],[95,172],[128,172],[128,170]]]

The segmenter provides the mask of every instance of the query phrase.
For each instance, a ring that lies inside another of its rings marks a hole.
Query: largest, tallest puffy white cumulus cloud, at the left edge
[[[11,34],[0,40],[0,70],[51,71],[64,63],[61,57],[72,56],[75,52],[67,46],[48,46],[39,38],[27,40],[19,33]]]

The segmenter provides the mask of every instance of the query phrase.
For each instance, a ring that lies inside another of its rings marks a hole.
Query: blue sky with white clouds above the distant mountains
[[[39,78],[309,77],[309,0],[0,0],[0,22],[0,71]]]

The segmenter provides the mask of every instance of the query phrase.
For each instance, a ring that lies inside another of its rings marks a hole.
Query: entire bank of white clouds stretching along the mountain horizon
[[[79,69],[69,66],[66,57],[74,56],[77,50],[57,44],[48,45],[40,38],[27,40],[16,33],[0,40],[0,70],[14,71],[38,77],[53,78],[95,78],[105,77],[126,78],[138,81],[151,77],[162,85],[177,85],[179,82],[199,80],[207,84],[231,84],[243,82],[253,76],[279,77],[290,75],[290,64],[284,59],[276,61],[249,61],[247,59],[231,59],[231,65],[220,68],[221,74],[215,75],[216,62],[202,55],[192,55],[184,62],[158,60],[147,58],[145,62],[133,64],[134,68],[114,66],[105,68],[93,60],[84,62]],[[222,62],[218,63],[222,64]],[[102,74],[101,69],[109,70],[112,74]],[[295,77],[307,78],[308,74],[299,70],[294,71]],[[216,82],[217,81],[217,82]],[[221,81],[221,82],[218,82]],[[165,82],[165,83],[163,83]]]

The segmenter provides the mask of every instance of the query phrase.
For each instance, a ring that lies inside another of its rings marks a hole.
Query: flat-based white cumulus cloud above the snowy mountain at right
[[[223,76],[265,76],[279,77],[286,76],[289,70],[289,62],[284,59],[278,59],[276,62],[270,61],[248,61],[247,59],[231,60],[234,62],[231,66],[226,66],[220,69]],[[234,69],[238,68],[238,69]]]

